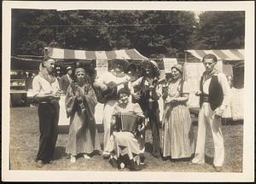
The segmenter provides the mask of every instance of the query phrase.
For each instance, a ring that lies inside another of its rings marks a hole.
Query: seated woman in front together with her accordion
[[[111,121],[111,137],[108,147],[112,148],[110,163],[119,170],[142,170],[144,167],[145,121],[143,110],[138,104],[128,101],[129,89],[119,89],[118,102],[114,106]]]

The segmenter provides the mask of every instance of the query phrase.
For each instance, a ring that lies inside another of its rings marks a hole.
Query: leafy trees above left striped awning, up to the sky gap
[[[146,56],[177,56],[195,43],[189,11],[15,9],[12,20],[12,55],[42,55],[55,41],[62,49],[136,48]]]

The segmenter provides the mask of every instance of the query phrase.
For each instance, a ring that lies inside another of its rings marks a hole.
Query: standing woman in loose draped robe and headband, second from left
[[[66,152],[71,155],[72,163],[76,162],[79,153],[83,153],[84,158],[90,158],[95,150],[101,150],[94,118],[95,92],[86,81],[83,68],[77,68],[75,76],[77,82],[70,84],[66,96],[67,116],[70,117]]]

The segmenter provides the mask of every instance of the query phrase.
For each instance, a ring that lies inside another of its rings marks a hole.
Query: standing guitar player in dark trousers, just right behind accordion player
[[[152,155],[155,158],[160,158],[160,109],[158,100],[161,95],[157,88],[158,77],[158,64],[154,60],[144,60],[143,77],[132,83],[132,86],[138,88],[139,92],[135,92],[131,88],[132,97],[138,101],[145,117],[149,120],[153,139]]]

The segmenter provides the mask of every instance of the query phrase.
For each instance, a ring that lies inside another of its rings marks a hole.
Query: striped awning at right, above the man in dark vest
[[[204,55],[216,55],[218,60],[224,60],[230,63],[233,67],[244,66],[244,49],[211,49],[211,50],[185,50],[185,53],[193,55],[195,58],[201,60]],[[187,56],[187,60],[190,60]]]

